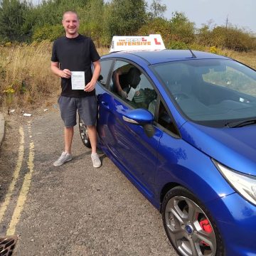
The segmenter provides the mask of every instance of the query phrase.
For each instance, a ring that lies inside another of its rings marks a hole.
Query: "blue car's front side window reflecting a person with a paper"
[[[110,80],[110,90],[131,107],[144,108],[152,114],[156,108],[156,91],[139,68],[117,60]]]

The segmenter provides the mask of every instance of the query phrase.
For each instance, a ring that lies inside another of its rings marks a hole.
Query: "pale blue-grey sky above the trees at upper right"
[[[151,0],[147,1],[150,6]],[[166,4],[164,17],[174,11],[183,12],[189,21],[201,28],[202,24],[225,26],[228,23],[256,34],[256,0],[161,0]]]

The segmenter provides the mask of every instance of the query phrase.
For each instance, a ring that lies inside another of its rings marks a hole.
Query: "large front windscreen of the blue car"
[[[153,66],[181,112],[193,122],[223,127],[256,118],[256,71],[229,59],[172,61]]]

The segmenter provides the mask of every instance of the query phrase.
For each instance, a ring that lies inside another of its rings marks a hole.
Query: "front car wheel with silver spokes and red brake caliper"
[[[210,213],[186,188],[176,187],[166,193],[162,218],[178,255],[224,255],[220,233]]]

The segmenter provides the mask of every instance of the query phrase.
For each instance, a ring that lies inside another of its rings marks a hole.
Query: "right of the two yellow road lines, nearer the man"
[[[6,232],[6,235],[14,235],[16,225],[18,223],[19,218],[21,217],[21,211],[23,210],[24,203],[26,201],[26,197],[28,195],[28,191],[31,185],[31,178],[33,174],[33,159],[34,159],[34,144],[33,142],[30,143],[29,146],[29,156],[28,156],[28,169],[29,172],[28,174],[25,175],[23,185],[21,188],[21,192],[18,196],[18,201],[16,204],[16,208],[14,209],[14,214],[12,215],[11,218],[11,223],[9,225],[9,229]]]

